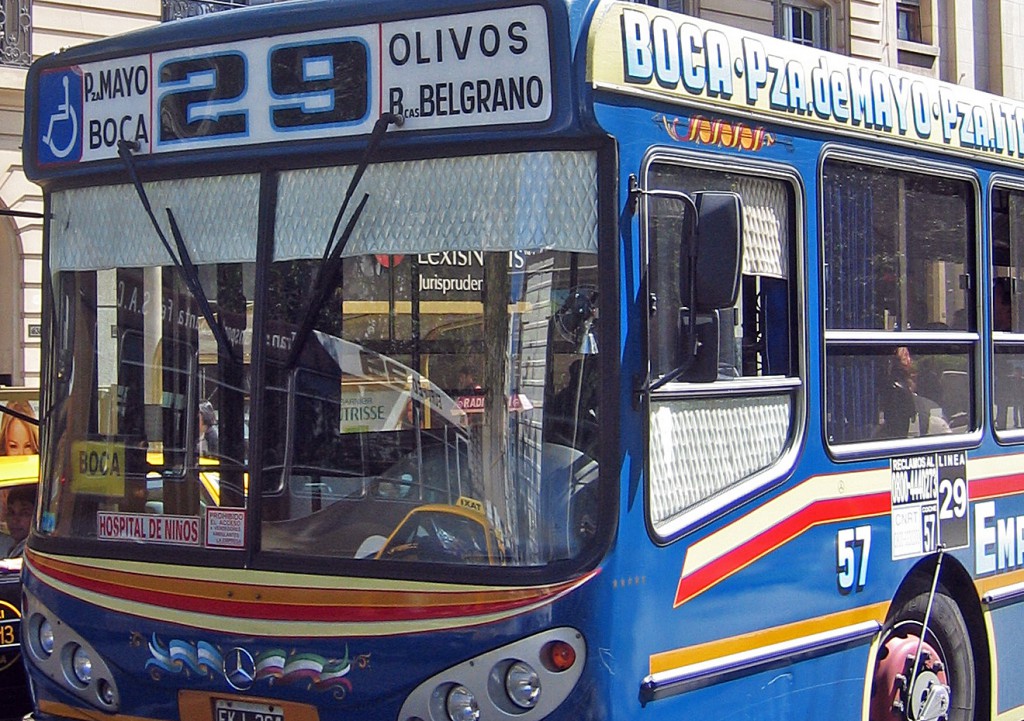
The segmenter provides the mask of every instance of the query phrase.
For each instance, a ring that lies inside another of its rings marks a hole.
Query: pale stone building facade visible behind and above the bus
[[[0,0],[0,385],[38,387],[42,195],[22,171],[33,57],[269,0]],[[1024,0],[645,0],[1024,100]]]

